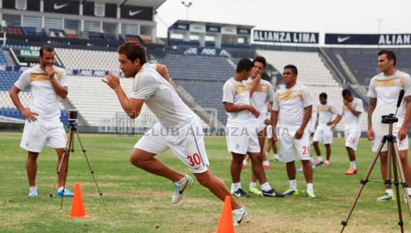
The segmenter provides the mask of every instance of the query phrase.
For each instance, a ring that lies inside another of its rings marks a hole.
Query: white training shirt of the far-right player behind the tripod
[[[405,90],[404,98],[411,95],[411,77],[409,74],[396,71],[392,76],[385,76],[384,73],[379,73],[370,81],[368,97],[376,98],[377,106],[379,104],[390,104],[397,107],[398,95],[400,95],[401,89]],[[404,99],[402,99],[398,109],[398,119],[404,119],[405,108]]]

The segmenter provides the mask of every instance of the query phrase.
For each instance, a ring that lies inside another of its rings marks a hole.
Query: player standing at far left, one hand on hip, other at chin
[[[57,169],[62,160],[66,147],[66,131],[60,121],[59,97],[67,98],[68,88],[66,71],[57,66],[55,50],[50,45],[40,48],[40,65],[28,68],[21,73],[20,78],[10,90],[10,97],[16,108],[26,117],[20,147],[28,151],[26,170],[29,184],[28,196],[38,196],[35,186],[37,174],[37,158],[43,148],[55,148],[58,156]],[[31,105],[26,108],[21,104],[18,92],[30,88]],[[67,177],[68,157],[64,156],[60,174],[57,196],[72,197],[73,193],[64,189],[64,180]],[[64,189],[64,190],[63,190]]]

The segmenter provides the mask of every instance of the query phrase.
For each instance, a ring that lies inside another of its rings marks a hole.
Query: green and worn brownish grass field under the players
[[[57,156],[45,149],[38,159],[38,198],[28,198],[26,151],[18,147],[20,133],[0,133],[0,232],[215,232],[223,202],[198,183],[194,183],[176,205],[171,205],[171,181],[147,174],[130,165],[128,153],[136,137],[81,134],[91,166],[96,171],[109,213],[103,208],[86,160],[79,150],[71,155],[67,186],[79,182],[86,213],[84,219],[67,217],[71,201],[52,198]],[[230,157],[225,138],[205,138],[210,170],[230,185]],[[371,143],[361,140],[357,150],[359,174],[344,175],[349,160],[342,139],[334,139],[330,167],[318,167],[314,173],[315,199],[305,198],[305,180],[298,174],[300,196],[286,198],[240,198],[249,211],[236,232],[338,232],[351,206],[359,180],[371,162]],[[324,151],[324,148],[322,148]],[[179,170],[188,169],[170,152],[158,156]],[[270,156],[272,157],[272,156]],[[299,167],[298,162],[297,167]],[[267,177],[278,191],[288,189],[285,165],[271,162]],[[250,169],[242,172],[242,186],[249,184]],[[380,180],[379,162],[371,179]],[[247,189],[246,189],[247,190]],[[368,183],[345,232],[398,232],[398,211],[394,201],[381,203],[383,184]],[[402,196],[402,194],[401,194]],[[411,217],[402,201],[405,232],[411,232]]]

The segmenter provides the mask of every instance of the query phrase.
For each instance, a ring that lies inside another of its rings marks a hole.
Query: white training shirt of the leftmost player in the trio
[[[250,105],[249,89],[245,82],[238,82],[230,78],[223,86],[223,102],[236,105]],[[256,119],[251,112],[243,110],[240,112],[227,112],[227,126],[245,126],[255,123]]]

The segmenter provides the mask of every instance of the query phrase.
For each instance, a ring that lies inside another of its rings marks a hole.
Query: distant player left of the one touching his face
[[[331,156],[331,144],[332,144],[332,115],[338,114],[337,107],[332,102],[327,102],[327,94],[322,92],[320,94],[320,102],[317,103],[317,119],[318,126],[315,129],[313,146],[315,153],[317,154],[317,162],[315,166],[328,167],[330,165],[330,156]],[[326,160],[322,161],[322,155],[318,143],[321,142],[325,145],[326,151]]]

